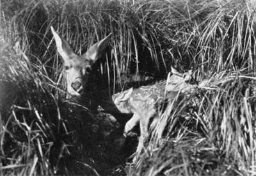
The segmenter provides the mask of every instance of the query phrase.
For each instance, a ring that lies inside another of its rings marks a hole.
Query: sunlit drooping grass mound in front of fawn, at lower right
[[[225,71],[170,104],[129,175],[255,174],[254,83]]]

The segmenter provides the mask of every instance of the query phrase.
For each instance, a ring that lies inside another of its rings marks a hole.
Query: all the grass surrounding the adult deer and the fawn
[[[0,5],[0,175],[256,175],[255,1]],[[205,86],[159,112],[131,164],[138,141],[122,138],[122,120],[106,134],[99,113],[65,100],[51,26],[77,54],[113,33],[91,90],[111,95],[145,84],[143,77],[152,84],[171,66],[192,69]],[[134,76],[141,79],[133,84]]]

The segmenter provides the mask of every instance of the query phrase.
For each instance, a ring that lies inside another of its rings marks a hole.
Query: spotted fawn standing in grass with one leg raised
[[[167,81],[156,83],[150,86],[141,86],[138,89],[130,88],[124,92],[112,95],[116,108],[121,113],[132,113],[132,118],[125,124],[124,136],[140,122],[140,139],[136,150],[140,154],[143,143],[148,137],[148,123],[150,118],[156,115],[159,107],[164,102],[174,100],[179,93],[187,92],[194,88],[187,83],[191,79],[191,70],[180,74],[172,68],[172,76]],[[135,157],[134,157],[135,161]]]

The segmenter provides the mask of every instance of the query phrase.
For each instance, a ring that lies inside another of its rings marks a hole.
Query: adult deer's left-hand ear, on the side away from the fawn
[[[70,55],[74,54],[70,45],[68,45],[68,43],[56,33],[52,26],[51,31],[57,45],[57,51],[59,52],[64,61],[70,60]]]

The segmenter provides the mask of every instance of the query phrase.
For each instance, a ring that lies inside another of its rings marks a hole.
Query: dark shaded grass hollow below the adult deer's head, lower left
[[[33,164],[36,175],[125,175],[137,141],[125,140],[106,113],[54,100],[47,92],[19,91],[12,108],[1,113],[1,164],[10,166],[4,175],[29,173]]]

